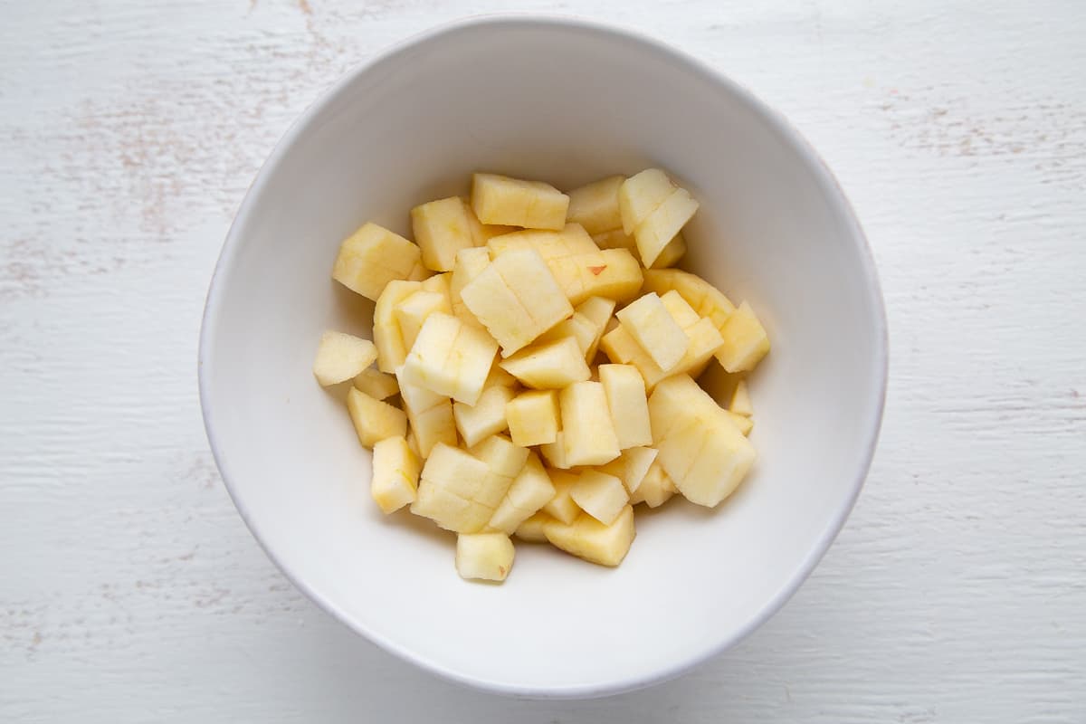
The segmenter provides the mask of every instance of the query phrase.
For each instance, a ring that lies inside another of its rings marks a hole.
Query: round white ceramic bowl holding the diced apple
[[[372,219],[485,169],[572,188],[647,166],[700,200],[684,266],[754,304],[773,351],[752,382],[759,460],[719,509],[639,515],[621,567],[519,545],[502,586],[462,581],[454,541],[369,499],[369,455],[313,380],[326,328],[372,305],[330,278]],[[212,280],[200,394],[223,479],[294,584],[379,646],[451,679],[540,697],[675,676],[749,634],[825,552],[859,493],[886,385],[862,232],[775,113],[658,42],[573,20],[483,17],[355,69],[287,134]]]

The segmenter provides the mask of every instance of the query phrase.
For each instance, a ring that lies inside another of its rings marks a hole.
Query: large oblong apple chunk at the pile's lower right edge
[[[648,412],[660,466],[691,503],[718,505],[754,463],[750,442],[727,411],[685,374],[656,386]]]

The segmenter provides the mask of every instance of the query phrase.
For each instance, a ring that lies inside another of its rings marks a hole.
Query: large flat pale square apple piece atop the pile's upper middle
[[[533,250],[501,254],[460,297],[508,357],[573,314],[543,257]]]

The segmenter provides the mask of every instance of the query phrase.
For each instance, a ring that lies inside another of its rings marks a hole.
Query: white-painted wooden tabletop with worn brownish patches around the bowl
[[[197,401],[212,267],[288,124],[504,3],[0,4],[0,721],[1086,721],[1086,8],[950,4],[521,3],[787,114],[892,330],[874,467],[813,576],[694,673],[583,703],[460,689],[317,610],[235,512]]]

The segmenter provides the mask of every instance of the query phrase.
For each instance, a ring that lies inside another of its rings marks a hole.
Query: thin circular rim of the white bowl
[[[209,363],[214,357],[212,339],[215,336],[218,310],[222,303],[223,290],[220,280],[228,276],[228,272],[236,264],[236,257],[240,245],[239,239],[241,237],[241,229],[247,227],[249,224],[249,216],[252,213],[254,199],[260,195],[260,191],[267,183],[268,178],[274,174],[275,169],[280,165],[289,149],[294,145],[300,136],[308,130],[313,119],[370,68],[439,37],[477,27],[515,28],[539,26],[550,26],[596,36],[609,36],[610,39],[637,46],[644,51],[655,53],[667,61],[685,66],[685,68],[691,73],[699,75],[716,85],[727,88],[731,93],[740,98],[757,116],[759,116],[763,124],[778,135],[783,143],[788,145],[795,153],[803,157],[803,160],[810,167],[819,186],[823,187],[826,195],[836,200],[837,205],[839,206],[838,211],[843,212],[847,226],[850,228],[850,241],[855,242],[856,245],[855,251],[858,254],[861,264],[863,277],[862,281],[867,292],[868,303],[872,307],[872,320],[874,321],[876,332],[876,348],[873,351],[871,363],[873,365],[874,372],[877,374],[877,391],[875,393],[877,398],[874,401],[875,404],[871,407],[869,419],[867,420],[866,427],[869,429],[869,433],[867,440],[864,441],[862,453],[857,458],[851,487],[847,498],[836,511],[836,515],[833,516],[824,525],[817,545],[800,560],[799,564],[788,575],[784,585],[782,585],[781,588],[779,588],[776,593],[766,601],[759,612],[744,625],[729,632],[728,635],[716,642],[714,646],[704,651],[696,652],[694,656],[690,657],[680,664],[640,676],[627,677],[624,679],[564,687],[516,685],[500,681],[489,681],[487,678],[467,675],[450,669],[437,661],[430,660],[425,655],[409,647],[401,646],[400,644],[386,637],[379,631],[375,631],[361,622],[354,621],[334,601],[312,589],[300,574],[295,574],[289,570],[276,556],[275,551],[268,547],[268,544],[261,534],[260,525],[255,520],[253,520],[244,500],[237,494],[230,482],[230,475],[227,473],[228,466],[226,463],[226,452],[222,449],[216,442],[216,414],[213,409],[211,399],[211,383],[207,379],[207,374],[205,373],[205,370],[212,367]],[[255,177],[253,178],[253,181],[250,183],[249,189],[245,191],[245,195],[238,207],[237,215],[235,216],[223,243],[222,251],[215,264],[214,272],[212,274],[204,303],[204,312],[200,328],[197,372],[204,430],[207,435],[207,442],[211,447],[212,456],[215,459],[215,465],[219,470],[223,483],[226,486],[230,499],[233,501],[238,513],[241,516],[241,519],[244,521],[250,533],[256,539],[256,543],[261,546],[261,548],[263,548],[265,555],[267,555],[272,562],[294,585],[294,587],[304,593],[321,610],[348,626],[351,631],[363,635],[365,638],[369,639],[383,650],[403,660],[409,661],[425,671],[437,674],[447,681],[468,688],[527,699],[588,699],[632,691],[634,689],[640,689],[675,678],[708,659],[719,656],[723,651],[738,644],[760,627],[772,615],[774,615],[784,606],[784,604],[792,598],[792,596],[799,589],[803,583],[818,566],[819,561],[821,561],[822,557],[837,537],[837,534],[844,528],[845,521],[859,497],[860,490],[863,486],[863,482],[868,475],[874,457],[882,427],[883,411],[886,404],[888,358],[886,308],[879,281],[877,269],[875,267],[874,257],[871,253],[871,246],[867,236],[860,226],[856,212],[849,203],[844,189],[842,189],[839,182],[830,170],[829,166],[815,151],[813,147],[806,140],[806,138],[804,138],[803,135],[780,112],[770,107],[743,85],[729,78],[723,73],[710,66],[708,63],[640,30],[613,23],[604,23],[554,13],[494,13],[475,15],[434,25],[421,33],[416,33],[389,47],[386,47],[372,58],[354,65],[331,86],[320,91],[316,100],[314,100],[302,112],[302,114],[290,124],[282,138],[279,139],[272,153],[261,165]]]

